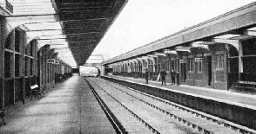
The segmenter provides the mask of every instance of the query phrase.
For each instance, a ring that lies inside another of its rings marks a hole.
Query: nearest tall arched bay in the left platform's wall
[[[24,31],[14,29],[6,37],[3,51],[4,106],[23,101],[24,96]]]

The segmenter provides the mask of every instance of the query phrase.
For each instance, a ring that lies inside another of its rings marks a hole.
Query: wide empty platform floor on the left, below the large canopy
[[[116,133],[84,78],[73,76],[6,119],[0,133]]]

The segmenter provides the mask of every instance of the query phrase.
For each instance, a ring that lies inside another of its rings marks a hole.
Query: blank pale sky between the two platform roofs
[[[129,0],[92,54],[124,54],[253,0]]]

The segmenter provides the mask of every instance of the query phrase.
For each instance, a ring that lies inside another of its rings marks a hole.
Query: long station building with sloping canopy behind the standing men
[[[255,3],[217,16],[178,33],[153,41],[104,61],[113,75],[158,80],[162,69],[166,82],[220,90],[245,87],[254,92],[255,79]]]

